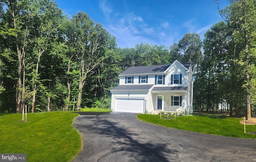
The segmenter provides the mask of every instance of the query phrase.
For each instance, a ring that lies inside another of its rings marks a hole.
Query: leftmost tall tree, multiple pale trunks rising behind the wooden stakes
[[[34,6],[36,6],[36,0],[4,0],[2,3],[7,7],[3,16],[3,20],[8,24],[9,35],[14,37],[13,47],[18,56],[18,81],[16,86],[16,112],[21,112],[22,102],[24,102],[24,68],[25,66],[26,50],[29,44],[30,30],[34,26]],[[23,94],[22,94],[23,93]]]

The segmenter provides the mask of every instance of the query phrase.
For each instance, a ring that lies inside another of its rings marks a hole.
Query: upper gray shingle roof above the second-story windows
[[[188,69],[190,66],[190,63],[183,63],[182,65]],[[127,70],[122,72],[120,75],[159,73],[159,72],[164,72],[170,66],[171,64],[153,65],[153,66],[134,66],[134,67],[128,68]]]

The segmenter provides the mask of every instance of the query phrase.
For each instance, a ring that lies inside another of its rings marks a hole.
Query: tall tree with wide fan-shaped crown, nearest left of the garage
[[[71,18],[74,33],[70,33],[70,38],[75,43],[75,59],[80,72],[79,92],[77,110],[80,110],[82,100],[82,89],[87,82],[87,78],[94,74],[95,68],[108,56],[105,56],[106,46],[111,38],[110,34],[102,28],[101,24],[94,24],[88,14],[78,12]]]

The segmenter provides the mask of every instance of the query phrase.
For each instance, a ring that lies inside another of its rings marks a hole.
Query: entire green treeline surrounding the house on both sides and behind
[[[216,1],[218,4],[218,1]],[[114,36],[85,12],[68,19],[54,1],[0,1],[0,111],[110,108],[110,89],[131,66],[191,62],[194,109],[227,103],[252,116],[256,100],[256,2],[231,0],[224,21],[201,38],[187,33],[170,47],[117,48]],[[215,108],[215,109],[214,109]]]

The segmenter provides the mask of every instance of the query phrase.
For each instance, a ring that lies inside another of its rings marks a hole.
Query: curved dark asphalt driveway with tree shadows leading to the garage
[[[256,139],[232,138],[142,122],[133,113],[79,113],[83,149],[72,162],[256,161]]]

